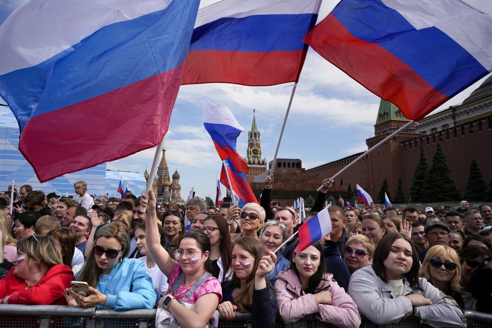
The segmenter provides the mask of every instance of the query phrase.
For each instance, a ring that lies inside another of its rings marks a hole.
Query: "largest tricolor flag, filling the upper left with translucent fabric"
[[[159,144],[199,0],[31,0],[0,26],[0,95],[40,181]]]

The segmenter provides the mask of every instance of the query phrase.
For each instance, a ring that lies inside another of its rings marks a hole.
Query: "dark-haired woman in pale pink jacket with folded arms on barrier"
[[[326,273],[321,244],[316,242],[293,253],[291,268],[278,274],[275,282],[278,312],[285,323],[314,314],[337,327],[358,327],[357,305],[333,275]]]

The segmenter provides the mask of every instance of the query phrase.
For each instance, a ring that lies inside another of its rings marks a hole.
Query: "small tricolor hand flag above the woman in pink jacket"
[[[296,253],[302,252],[332,231],[332,220],[330,213],[328,213],[328,207],[304,222],[298,231],[299,243],[294,250]]]

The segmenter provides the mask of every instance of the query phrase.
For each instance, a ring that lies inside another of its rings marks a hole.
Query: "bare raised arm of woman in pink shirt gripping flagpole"
[[[152,258],[155,260],[160,271],[168,277],[173,271],[176,260],[169,256],[169,253],[160,244],[159,231],[157,230],[157,213],[155,212],[156,199],[154,192],[149,191],[149,197],[145,192],[142,193],[140,200],[142,207],[147,207],[145,211],[145,238],[147,248]]]

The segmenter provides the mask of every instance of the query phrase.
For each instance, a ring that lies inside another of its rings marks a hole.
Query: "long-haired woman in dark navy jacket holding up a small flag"
[[[222,282],[223,302],[217,310],[226,320],[236,311],[251,312],[253,328],[272,328],[277,315],[277,300],[266,276],[275,267],[275,253],[265,255],[257,238],[243,237],[233,244],[232,280]]]

